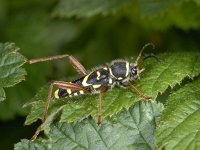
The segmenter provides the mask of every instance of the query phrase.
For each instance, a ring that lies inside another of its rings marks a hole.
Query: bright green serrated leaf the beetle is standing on
[[[138,89],[145,95],[151,96],[153,100],[157,98],[159,93],[164,93],[169,86],[174,87],[186,77],[192,78],[200,73],[199,53],[166,53],[158,57],[161,59],[161,63],[151,61],[147,64],[144,75],[135,84]],[[36,101],[32,103],[33,107],[25,124],[31,124],[42,118],[47,93],[48,87],[46,86],[33,98]],[[102,117],[112,116],[141,99],[132,89],[114,88],[103,95]],[[98,101],[98,95],[67,98],[59,102],[52,100],[48,115],[56,110],[60,112],[60,107],[62,107],[61,122],[78,121],[88,115],[97,117]],[[52,115],[50,116],[53,119]]]

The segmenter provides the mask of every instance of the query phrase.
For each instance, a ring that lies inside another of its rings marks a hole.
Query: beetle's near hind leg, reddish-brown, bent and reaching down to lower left
[[[56,86],[58,88],[63,88],[63,89],[83,90],[85,93],[90,93],[90,91],[88,91],[87,89],[80,87],[76,84],[69,83],[69,82],[62,82],[62,81],[54,81],[53,83],[51,83],[50,88],[49,88],[49,93],[48,93],[47,101],[46,101],[46,104],[45,104],[45,110],[44,110],[43,118],[42,118],[42,125],[46,121],[46,116],[47,116],[49,104],[50,104],[50,101],[51,101],[53,86]],[[40,127],[38,127],[38,129],[36,130],[35,134],[31,138],[32,141],[34,141],[37,138],[38,134],[42,130],[42,125]]]

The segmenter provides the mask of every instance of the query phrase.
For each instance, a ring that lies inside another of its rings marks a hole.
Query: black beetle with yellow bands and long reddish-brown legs
[[[72,82],[64,82],[64,81],[53,81],[50,85],[48,98],[45,106],[45,110],[43,113],[44,123],[46,120],[46,114],[49,108],[49,103],[52,97],[53,86],[56,86],[58,89],[54,92],[54,97],[56,99],[66,98],[78,96],[81,94],[91,94],[98,93],[99,94],[99,110],[98,110],[98,121],[97,124],[101,124],[101,113],[102,113],[102,93],[106,92],[113,87],[130,87],[136,91],[140,96],[144,99],[149,99],[150,97],[145,96],[140,90],[138,90],[134,85],[131,84],[130,81],[136,81],[140,79],[141,72],[144,69],[140,69],[139,65],[142,61],[140,61],[143,50],[147,46],[153,46],[152,43],[148,43],[143,46],[140,51],[136,61],[134,63],[129,62],[125,59],[117,59],[112,61],[111,63],[107,63],[100,67],[96,67],[90,72],[87,72],[85,68],[71,55],[58,55],[53,57],[46,57],[40,59],[29,60],[30,64],[42,62],[42,61],[50,61],[61,58],[68,58],[72,66],[78,71],[82,77],[72,81]],[[155,56],[153,56],[155,57]],[[39,127],[32,140],[34,140],[39,134],[41,128]]]

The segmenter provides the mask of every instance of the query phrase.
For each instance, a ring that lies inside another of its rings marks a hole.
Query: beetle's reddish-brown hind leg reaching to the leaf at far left
[[[56,60],[56,59],[66,58],[66,57],[69,59],[70,64],[75,68],[75,70],[78,73],[80,73],[82,75],[87,75],[87,71],[85,70],[83,65],[81,65],[81,63],[76,58],[74,58],[72,55],[68,55],[68,54],[56,55],[56,56],[44,57],[44,58],[38,58],[38,59],[31,59],[31,60],[28,60],[28,63],[34,64],[34,63],[38,63],[38,62],[52,61],[52,60]]]

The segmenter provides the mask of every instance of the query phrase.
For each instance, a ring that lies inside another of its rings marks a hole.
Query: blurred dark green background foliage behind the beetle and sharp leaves
[[[28,59],[72,54],[87,68],[136,56],[153,42],[155,54],[200,49],[199,0],[0,0],[0,42],[14,42]],[[0,149],[30,138],[40,122],[23,126],[37,90],[76,76],[66,60],[25,65],[26,81],[6,89],[0,103]]]

